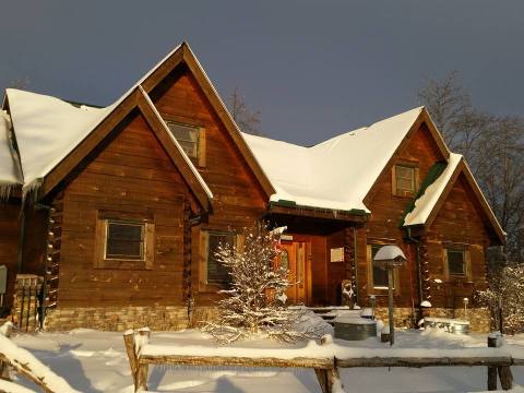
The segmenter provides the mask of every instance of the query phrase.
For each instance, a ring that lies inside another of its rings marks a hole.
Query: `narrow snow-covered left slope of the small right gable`
[[[445,186],[450,182],[456,167],[462,160],[461,154],[451,153],[448,166],[440,174],[440,176],[426,189],[422,195],[415,201],[415,207],[407,213],[404,218],[404,225],[421,225],[426,224],[429,215],[433,211],[437,201],[445,189]]]

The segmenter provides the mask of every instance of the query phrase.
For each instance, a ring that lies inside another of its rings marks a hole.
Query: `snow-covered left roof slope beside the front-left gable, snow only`
[[[112,109],[76,107],[59,98],[7,90],[24,189],[46,176]]]

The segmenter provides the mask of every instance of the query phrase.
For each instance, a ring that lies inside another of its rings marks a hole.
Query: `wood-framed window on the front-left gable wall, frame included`
[[[99,211],[95,231],[95,267],[153,267],[155,224],[152,217]]]

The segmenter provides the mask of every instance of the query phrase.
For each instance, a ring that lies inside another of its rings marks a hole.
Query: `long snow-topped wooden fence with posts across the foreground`
[[[150,365],[311,368],[317,374],[323,393],[343,392],[340,379],[341,368],[484,366],[488,367],[488,390],[497,389],[497,374],[500,378],[502,389],[509,390],[513,383],[510,367],[524,366],[522,354],[519,354],[517,357],[512,356],[504,347],[461,349],[350,348],[333,344],[330,340],[323,338],[320,345],[308,345],[303,348],[209,347],[204,349],[200,346],[152,345],[150,344],[150,330],[147,327],[126,332],[123,341],[135,392],[147,391]],[[493,343],[495,346],[500,345],[499,340]]]

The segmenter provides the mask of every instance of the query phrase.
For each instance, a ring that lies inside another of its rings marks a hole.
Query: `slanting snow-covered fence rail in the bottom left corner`
[[[28,380],[39,385],[46,393],[78,393],[69,385],[69,383],[62,378],[57,376],[46,365],[40,362],[28,350],[19,347],[10,338],[12,324],[11,322],[4,323],[0,327],[0,378],[9,378],[9,367],[13,368],[17,373],[24,376]],[[10,383],[11,385],[13,383]],[[15,391],[13,386],[7,389],[0,388],[8,392]],[[22,392],[24,389],[19,386],[17,391]]]

